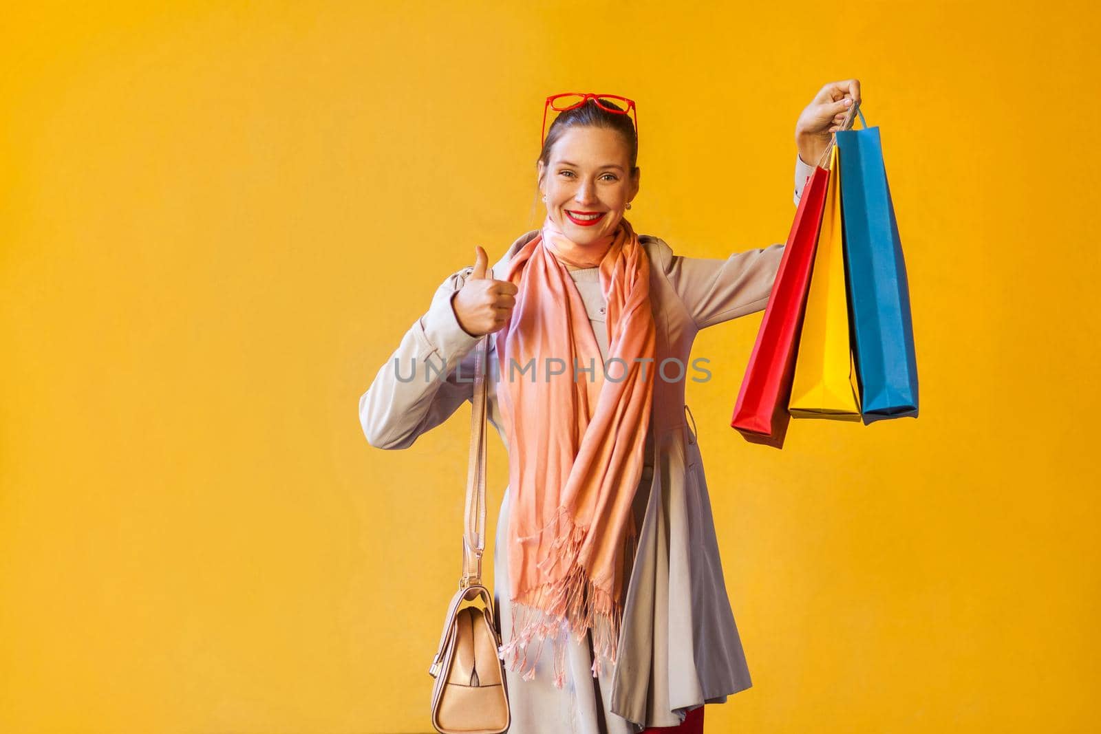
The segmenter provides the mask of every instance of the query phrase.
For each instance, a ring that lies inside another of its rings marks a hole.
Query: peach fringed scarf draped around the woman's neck
[[[600,266],[607,366],[566,264]],[[615,662],[623,555],[636,536],[632,501],[656,369],[650,260],[625,219],[612,234],[581,247],[547,217],[504,280],[517,293],[509,325],[494,332],[510,454],[513,601],[512,637],[500,653],[506,661],[511,655],[513,671],[532,653],[523,675],[531,680],[550,637],[554,683],[562,688],[569,631],[578,640],[592,631],[593,677],[601,657]]]

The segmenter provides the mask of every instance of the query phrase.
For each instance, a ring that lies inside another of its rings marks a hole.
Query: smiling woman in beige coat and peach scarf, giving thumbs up
[[[832,83],[799,117],[796,202],[853,100],[859,81]],[[635,234],[623,112],[587,96],[554,120],[541,229],[491,269],[476,248],[359,404],[372,446],[411,446],[471,399],[490,335],[489,420],[510,462],[494,599],[512,734],[701,732],[704,703],[751,686],[684,381],[701,379],[700,329],[765,307],[784,245],[706,260]]]

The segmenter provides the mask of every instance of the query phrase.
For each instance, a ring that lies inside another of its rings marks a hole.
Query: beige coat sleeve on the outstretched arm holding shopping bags
[[[795,204],[815,167],[795,155]],[[784,256],[784,244],[776,243],[726,259],[685,258],[673,253],[663,241],[658,250],[665,262],[666,277],[691,315],[697,329],[722,324],[760,310],[768,304],[772,285]]]

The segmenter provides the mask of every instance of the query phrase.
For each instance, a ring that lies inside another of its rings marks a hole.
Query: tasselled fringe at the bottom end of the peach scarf
[[[559,519],[569,526],[568,516],[560,515]],[[555,688],[563,688],[566,682],[567,636],[570,632],[578,642],[585,638],[586,631],[592,632],[593,662],[590,670],[593,678],[602,669],[601,658],[615,665],[623,610],[608,591],[592,582],[577,560],[587,529],[575,526],[562,534],[552,546],[564,548],[562,555],[548,556],[539,562],[542,568],[555,563],[562,557],[570,559],[569,571],[564,577],[521,592],[513,600],[512,638],[498,648],[498,656],[513,672],[520,672],[527,666],[531,657],[531,666],[521,676],[522,680],[535,678],[535,666],[543,653],[543,644],[549,638],[554,648],[554,684]],[[528,653],[532,655],[528,656]]]

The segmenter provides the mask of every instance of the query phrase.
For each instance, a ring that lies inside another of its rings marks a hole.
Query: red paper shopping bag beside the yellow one
[[[815,166],[803,190],[780,259],[776,280],[764,308],[756,342],[745,368],[730,426],[746,440],[780,448],[784,443],[787,403],[795,374],[795,352],[826,208],[829,171]]]

